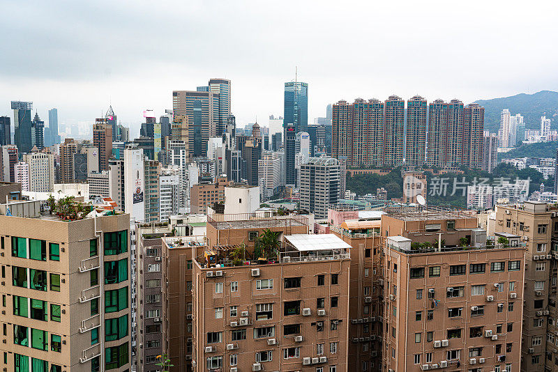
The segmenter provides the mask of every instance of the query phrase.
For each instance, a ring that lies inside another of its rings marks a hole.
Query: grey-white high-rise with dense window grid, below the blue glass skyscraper
[[[340,199],[340,166],[333,157],[311,157],[301,164],[301,208],[327,218],[328,208]]]

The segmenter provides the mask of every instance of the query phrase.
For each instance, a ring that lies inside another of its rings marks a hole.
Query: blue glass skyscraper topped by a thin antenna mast
[[[294,125],[294,132],[306,132],[308,129],[308,83],[285,83],[285,114],[283,127]]]

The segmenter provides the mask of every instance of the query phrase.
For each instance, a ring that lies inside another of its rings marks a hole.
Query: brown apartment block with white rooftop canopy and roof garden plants
[[[193,371],[349,371],[350,246],[284,235],[275,260],[194,260]]]

